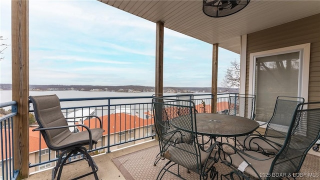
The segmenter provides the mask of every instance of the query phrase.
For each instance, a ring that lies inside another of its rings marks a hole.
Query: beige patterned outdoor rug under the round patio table
[[[132,152],[120,157],[113,158],[113,163],[120,170],[125,179],[128,180],[144,180],[144,179],[156,179],[158,172],[167,162],[167,159],[159,160],[156,166],[153,166],[155,156],[159,152],[159,146],[155,145],[136,152]],[[263,165],[263,164],[261,164]],[[223,163],[217,162],[214,164],[217,171],[220,174],[226,174],[230,171],[230,168]],[[170,169],[177,172],[177,165],[174,165]],[[320,157],[312,154],[306,155],[303,165],[300,170],[300,177],[296,177],[297,180],[320,180]],[[186,168],[180,166],[180,174],[185,179],[199,179],[199,175],[194,172],[187,173]],[[162,179],[180,179],[179,177],[166,172]],[[284,178],[283,178],[284,179]],[[293,179],[293,178],[289,178]]]

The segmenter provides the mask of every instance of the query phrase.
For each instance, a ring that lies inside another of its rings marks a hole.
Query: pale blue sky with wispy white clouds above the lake
[[[0,10],[11,44],[11,0]],[[155,27],[97,0],[29,0],[29,84],[154,86]],[[11,46],[0,55],[0,83],[11,83]],[[239,59],[219,47],[218,86]],[[210,87],[211,61],[212,44],[164,28],[163,86]]]

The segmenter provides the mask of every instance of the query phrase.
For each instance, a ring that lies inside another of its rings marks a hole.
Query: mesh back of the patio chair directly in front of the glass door
[[[278,96],[272,117],[267,123],[265,138],[283,144],[294,111],[297,107],[302,108],[299,104],[303,102],[304,98],[302,97]]]

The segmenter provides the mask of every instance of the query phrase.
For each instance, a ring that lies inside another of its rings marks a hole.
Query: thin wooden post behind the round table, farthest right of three
[[[218,47],[219,44],[212,45],[212,77],[211,77],[211,112],[216,112],[216,95],[217,95],[217,79],[218,79]]]

